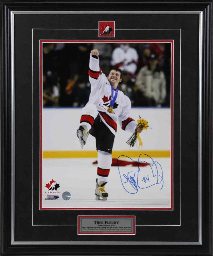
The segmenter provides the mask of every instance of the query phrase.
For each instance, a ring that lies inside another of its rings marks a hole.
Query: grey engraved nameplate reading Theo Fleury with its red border
[[[78,216],[78,235],[135,235],[135,216]]]

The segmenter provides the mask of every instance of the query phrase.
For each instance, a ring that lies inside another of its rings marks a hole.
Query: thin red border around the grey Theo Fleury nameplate
[[[125,232],[80,232],[80,218],[133,218],[133,231],[132,233],[125,233]],[[88,215],[79,215],[78,216],[78,235],[135,235],[135,216],[129,216],[129,215],[121,215],[121,216],[116,216],[116,215],[112,215],[112,216],[102,216],[102,215],[97,215],[97,216],[88,216]]]

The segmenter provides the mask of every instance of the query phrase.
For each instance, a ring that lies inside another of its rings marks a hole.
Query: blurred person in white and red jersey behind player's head
[[[123,71],[122,83],[118,88],[129,98],[131,98],[132,88],[134,86],[137,63],[137,51],[127,43],[120,44],[112,52],[111,66]],[[132,101],[131,103],[133,104]]]

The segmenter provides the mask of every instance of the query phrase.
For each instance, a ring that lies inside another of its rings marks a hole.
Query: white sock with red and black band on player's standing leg
[[[112,156],[110,153],[98,150],[98,184],[100,181],[108,182],[108,175],[112,164]]]

